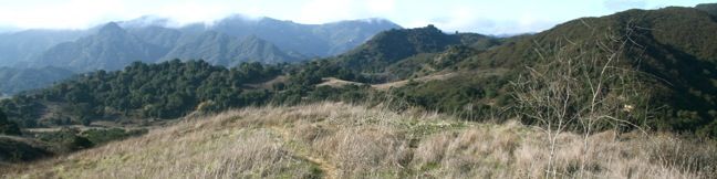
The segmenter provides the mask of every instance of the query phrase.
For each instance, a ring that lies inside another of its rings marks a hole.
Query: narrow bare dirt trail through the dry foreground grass
[[[291,134],[285,128],[278,127],[278,126],[272,126],[271,129],[279,133],[284,141],[293,140],[292,137],[291,137]],[[291,148],[289,148],[289,149],[291,149]],[[306,152],[301,152],[301,151],[292,151],[292,152],[294,155],[297,155],[297,157],[305,159],[309,162],[312,162],[312,164],[319,166],[319,169],[323,173],[323,178],[325,178],[325,179],[337,179],[339,178],[339,168],[335,165],[326,161],[324,158],[322,158],[320,156],[316,156],[316,155],[313,155],[311,152],[311,150],[308,150]]]

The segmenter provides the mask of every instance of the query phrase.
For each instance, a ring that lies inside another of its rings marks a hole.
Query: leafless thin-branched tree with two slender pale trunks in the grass
[[[536,49],[538,65],[526,66],[527,72],[512,82],[518,115],[544,131],[550,144],[545,178],[558,177],[554,151],[562,133],[582,133],[583,150],[589,151],[594,130],[638,128],[628,118],[637,116],[636,103],[646,97],[640,92],[644,87],[632,67],[634,61],[623,55],[641,46],[631,39],[634,27],[626,27],[620,34],[594,30],[598,35],[590,42],[563,38],[548,49]],[[581,178],[588,159],[582,157]]]

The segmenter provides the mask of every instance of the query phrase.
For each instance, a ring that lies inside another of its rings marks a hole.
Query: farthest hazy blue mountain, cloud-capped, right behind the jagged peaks
[[[321,57],[352,50],[382,31],[401,29],[399,25],[383,19],[301,24],[271,18],[251,19],[242,15],[228,17],[207,27],[207,30],[238,38],[256,35],[283,51]]]

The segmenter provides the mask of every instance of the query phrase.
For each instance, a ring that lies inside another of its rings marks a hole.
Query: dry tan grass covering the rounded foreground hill
[[[561,178],[711,178],[713,141],[668,134],[563,134]],[[3,178],[542,178],[549,146],[518,123],[345,104],[188,117],[149,134],[37,164]],[[581,170],[579,166],[588,166]]]

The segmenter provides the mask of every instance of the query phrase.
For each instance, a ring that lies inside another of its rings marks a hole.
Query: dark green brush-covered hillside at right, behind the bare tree
[[[630,10],[584,18],[470,55],[448,67],[461,74],[451,80],[408,85],[395,93],[411,103],[448,113],[501,114],[512,104],[511,82],[524,76],[527,67],[554,64],[560,57],[589,61],[592,59],[586,56],[592,56],[605,62],[615,55],[620,60],[613,64],[615,67],[634,70],[642,77],[611,86],[650,86],[641,95],[652,101],[642,105],[658,109],[647,126],[714,136],[716,32],[717,21],[692,8]],[[464,87],[466,84],[472,87]],[[455,92],[432,93],[447,92],[445,88]],[[445,101],[450,98],[456,101]],[[435,101],[440,103],[429,103]]]

